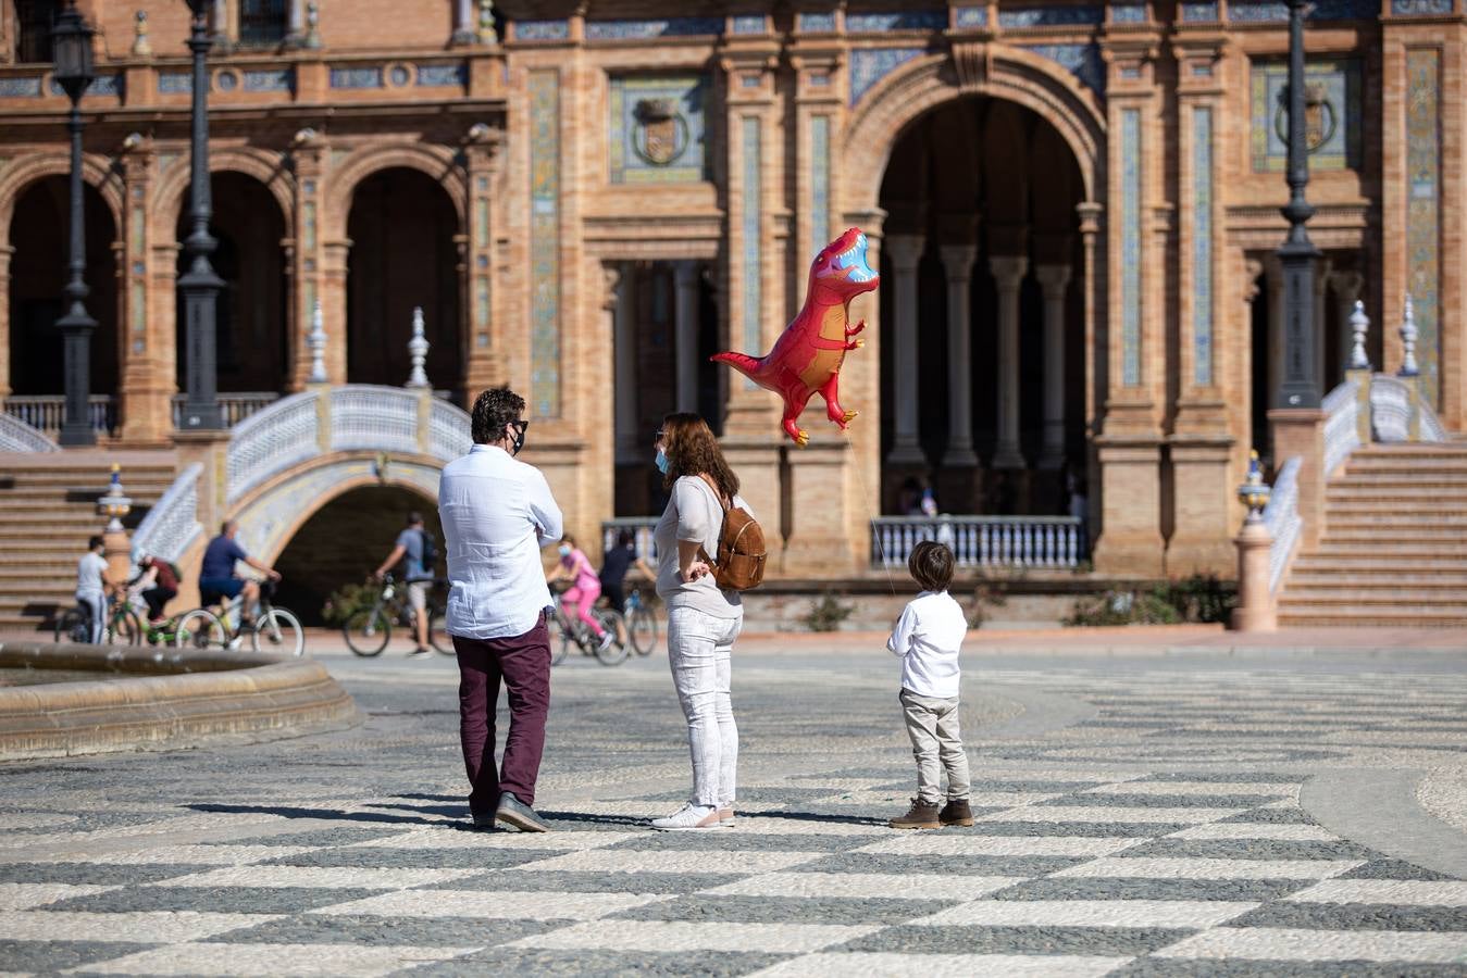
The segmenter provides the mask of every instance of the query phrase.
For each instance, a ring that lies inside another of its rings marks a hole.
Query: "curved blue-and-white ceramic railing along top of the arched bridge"
[[[348,384],[283,397],[235,425],[226,450],[227,503],[330,452],[398,452],[450,462],[468,452],[469,418],[427,390]]]

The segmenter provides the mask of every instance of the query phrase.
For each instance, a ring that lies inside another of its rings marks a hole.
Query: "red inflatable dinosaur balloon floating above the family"
[[[852,227],[816,255],[810,265],[805,305],[780,333],[769,355],[754,359],[729,352],[717,353],[713,359],[783,397],[785,416],[780,424],[795,444],[810,441],[810,435],[795,421],[817,391],[824,397],[826,416],[845,430],[855,412],[842,408],[836,393],[841,364],[845,362],[846,350],[863,345],[863,340],[851,337],[866,328],[866,320],[846,326],[851,321],[849,305],[851,299],[873,290],[879,283],[880,277],[866,264],[866,235]]]

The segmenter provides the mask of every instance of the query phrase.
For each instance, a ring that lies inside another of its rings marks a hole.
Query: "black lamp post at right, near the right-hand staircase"
[[[1314,262],[1319,249],[1304,221],[1314,208],[1304,199],[1309,147],[1304,125],[1304,13],[1307,0],[1288,0],[1288,238],[1278,249],[1284,268],[1284,381],[1275,408],[1319,408],[1314,375]]]

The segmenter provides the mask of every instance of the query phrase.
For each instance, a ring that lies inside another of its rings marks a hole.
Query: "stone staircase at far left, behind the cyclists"
[[[113,462],[132,499],[131,529],[173,484],[172,450],[0,455],[0,633],[44,629],[56,609],[75,604],[76,562],[106,525],[97,497]]]

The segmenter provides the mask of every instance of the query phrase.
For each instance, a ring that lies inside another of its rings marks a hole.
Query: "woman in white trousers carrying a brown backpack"
[[[667,660],[692,754],[692,796],[653,828],[734,827],[738,724],[729,696],[739,591],[763,576],[764,541],[738,494],[738,477],[694,413],[663,418],[656,465],[670,493],[653,534],[657,597],[667,606]],[[716,556],[713,556],[716,554]]]

